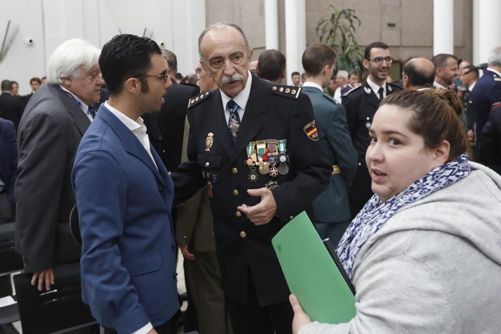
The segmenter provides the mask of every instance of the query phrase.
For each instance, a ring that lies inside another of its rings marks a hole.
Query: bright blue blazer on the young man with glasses
[[[168,321],[179,309],[173,183],[103,104],[75,157],[72,186],[82,234],[82,299],[119,333]]]

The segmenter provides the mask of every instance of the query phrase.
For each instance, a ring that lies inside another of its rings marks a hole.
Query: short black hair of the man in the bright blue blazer
[[[99,56],[99,67],[110,95],[117,95],[124,82],[133,77],[141,81],[141,92],[148,92],[144,76],[151,68],[151,56],[161,55],[158,45],[147,37],[123,34],[107,42]]]

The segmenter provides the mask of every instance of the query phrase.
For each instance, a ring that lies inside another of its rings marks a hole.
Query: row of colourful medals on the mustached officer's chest
[[[287,139],[258,140],[247,144],[247,159],[244,163],[249,167],[248,180],[252,183],[258,182],[258,172],[262,175],[270,174],[272,178],[276,178],[278,174],[286,175],[289,173],[287,162]],[[269,185],[275,188],[278,187],[278,182],[270,181]]]

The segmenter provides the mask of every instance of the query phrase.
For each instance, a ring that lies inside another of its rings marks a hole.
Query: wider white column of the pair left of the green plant
[[[303,73],[301,58],[306,49],[305,0],[285,0],[285,41],[287,84],[292,85],[291,74]]]

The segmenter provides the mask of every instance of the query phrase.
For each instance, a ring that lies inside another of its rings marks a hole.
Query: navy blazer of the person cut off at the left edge
[[[0,118],[0,180],[5,183],[7,199],[14,202],[14,184],[18,177],[18,149],[14,123]]]

